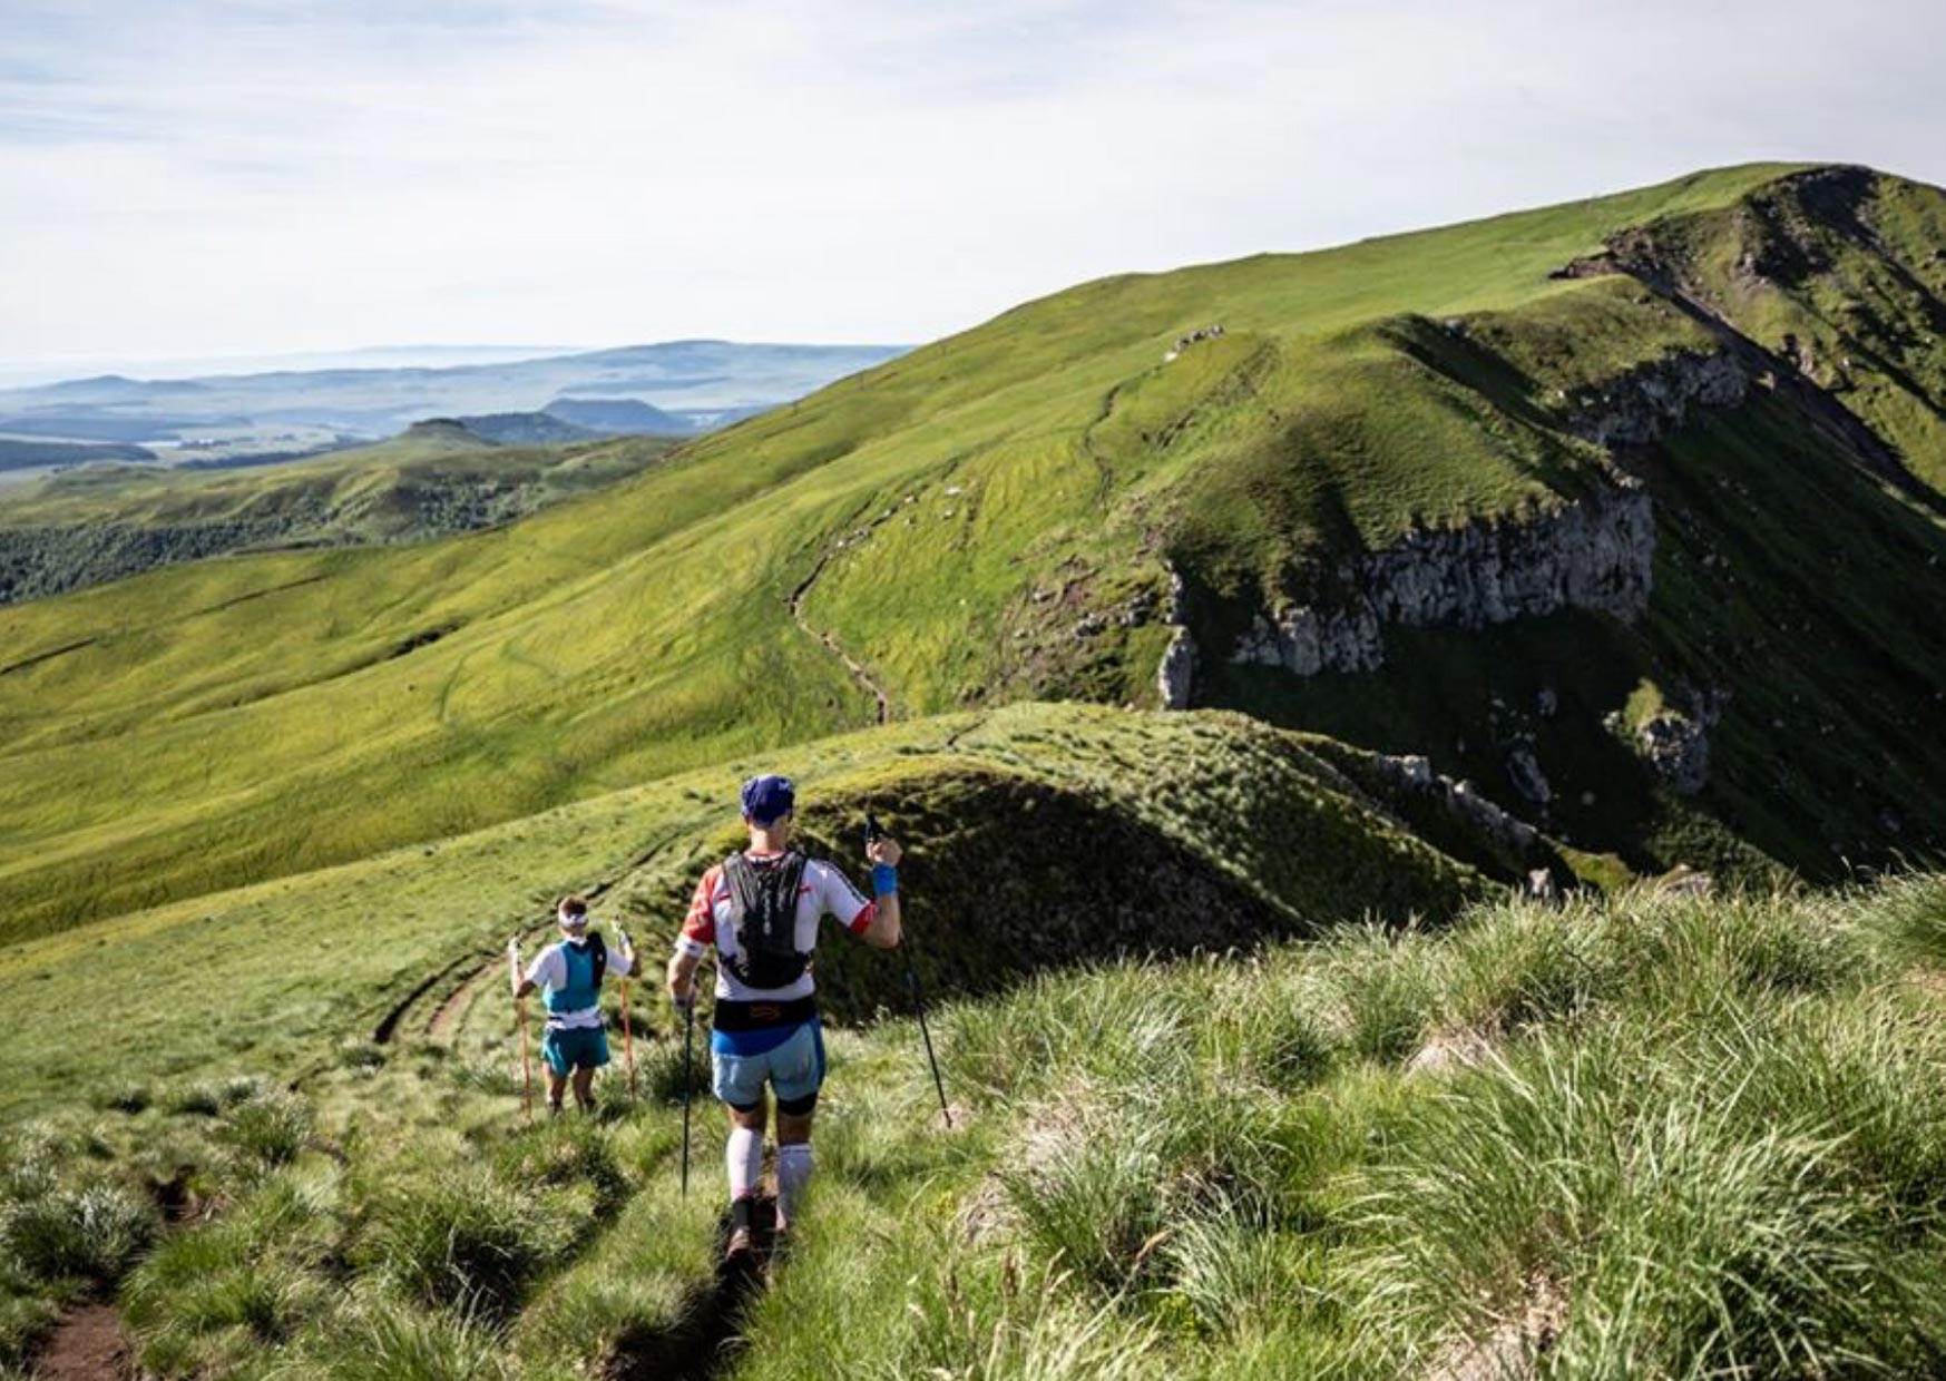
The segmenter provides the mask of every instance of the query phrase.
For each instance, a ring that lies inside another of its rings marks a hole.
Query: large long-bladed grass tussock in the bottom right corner
[[[1934,1371],[1946,1262],[1915,1274],[1893,1185],[1845,1167],[1821,1081],[1790,1076],[1804,1035],[1749,1023],[1672,1048],[1631,1023],[1460,1076],[1351,1212],[1374,1243],[1366,1290],[1389,1301],[1364,1317],[1374,1344],[1409,1360],[1485,1336],[1551,1282],[1572,1375]]]

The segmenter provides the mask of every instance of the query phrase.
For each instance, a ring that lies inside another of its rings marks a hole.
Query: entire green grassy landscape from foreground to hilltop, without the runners
[[[1940,1373],[1942,338],[1946,193],[1767,163],[0,504],[226,535],[0,607],[0,1379]],[[656,969],[755,772],[907,947],[739,1274]],[[564,893],[634,1068],[527,1124]]]

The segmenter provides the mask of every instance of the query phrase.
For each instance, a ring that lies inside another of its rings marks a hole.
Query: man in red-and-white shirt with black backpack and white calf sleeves
[[[751,1206],[763,1175],[765,1085],[776,1095],[776,1233],[788,1233],[811,1179],[811,1116],[825,1080],[825,1043],[811,996],[817,924],[835,916],[868,945],[899,943],[899,844],[876,840],[874,901],[831,864],[792,848],[796,792],[788,778],[743,784],[749,848],[703,873],[669,957],[669,996],[695,1002],[697,965],[716,953],[710,1087],[730,1111],[730,1257],[751,1249]]]

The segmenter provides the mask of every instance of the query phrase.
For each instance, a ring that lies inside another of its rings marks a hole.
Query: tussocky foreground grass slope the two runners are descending
[[[1049,974],[938,1013],[952,1134],[911,1027],[839,1033],[738,1375],[1936,1373],[1942,965],[1946,883],[1909,879]],[[510,1089],[413,1054],[319,1081],[315,1115],[169,1095],[86,1132],[148,1161],[41,1128],[8,1183],[72,1204],[204,1157],[222,1210],[121,1286],[158,1375],[689,1365],[718,1118],[681,1200],[671,1101],[522,1132]]]

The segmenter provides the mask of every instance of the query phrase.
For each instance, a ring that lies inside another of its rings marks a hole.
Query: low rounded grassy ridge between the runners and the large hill
[[[335,1058],[341,1037],[416,1033],[568,891],[594,891],[666,951],[703,868],[732,848],[736,790],[759,764],[798,780],[802,825],[831,858],[858,858],[868,807],[913,840],[913,926],[942,990],[1082,957],[1253,945],[1347,914],[1444,918],[1487,891],[1481,852],[1421,842],[1327,747],[1242,716],[1014,706],[728,761],[86,932],[16,928],[0,982],[35,1006],[128,1000],[115,1043],[35,1023],[0,1050],[0,1111],[121,1076],[288,1078]],[[841,1015],[903,1002],[903,974],[868,953],[833,953],[819,978]],[[187,1019],[212,986],[228,1019]]]

